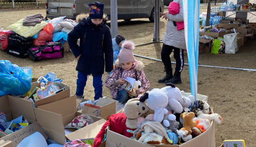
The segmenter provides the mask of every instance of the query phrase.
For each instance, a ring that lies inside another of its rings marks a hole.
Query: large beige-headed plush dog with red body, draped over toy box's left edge
[[[137,118],[147,111],[148,107],[145,102],[140,102],[138,98],[130,99],[125,104],[125,113],[110,115],[109,120],[104,123],[100,132],[95,137],[93,142],[94,147],[101,144],[104,138],[105,129],[108,126],[111,131],[116,132],[117,134],[122,134],[129,138],[132,137],[133,134],[127,132],[127,130],[134,131],[137,129]]]

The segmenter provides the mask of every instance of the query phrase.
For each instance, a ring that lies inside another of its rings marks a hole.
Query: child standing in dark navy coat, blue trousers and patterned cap
[[[82,98],[87,77],[92,74],[94,99],[102,98],[102,74],[104,65],[106,72],[113,70],[112,37],[106,20],[103,21],[104,4],[100,2],[89,3],[89,17],[81,22],[68,34],[68,45],[78,60],[76,70],[76,96]],[[80,38],[80,45],[77,41]]]

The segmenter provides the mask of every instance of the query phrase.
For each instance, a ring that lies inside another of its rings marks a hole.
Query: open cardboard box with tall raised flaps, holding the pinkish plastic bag
[[[38,108],[34,108],[37,122],[50,140],[64,145],[65,138],[69,140],[87,138],[87,135],[97,135],[105,120],[89,115],[95,123],[82,127],[78,131],[65,135],[64,126],[82,113],[76,112],[76,96],[60,99]],[[96,137],[96,135],[94,137]]]

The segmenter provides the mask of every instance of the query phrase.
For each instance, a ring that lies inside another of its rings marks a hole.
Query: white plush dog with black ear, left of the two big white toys
[[[144,93],[144,95],[139,98],[139,101],[146,101],[148,108],[155,111],[155,121],[158,121],[159,123],[163,121],[164,114],[168,112],[167,109],[165,109],[168,104],[168,97],[166,93],[159,89],[153,89]]]

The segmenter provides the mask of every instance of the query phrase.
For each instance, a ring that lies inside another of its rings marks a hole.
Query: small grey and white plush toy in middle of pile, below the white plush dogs
[[[173,114],[164,115],[163,126],[168,130],[175,132],[178,130],[178,123],[176,122],[176,116]]]

